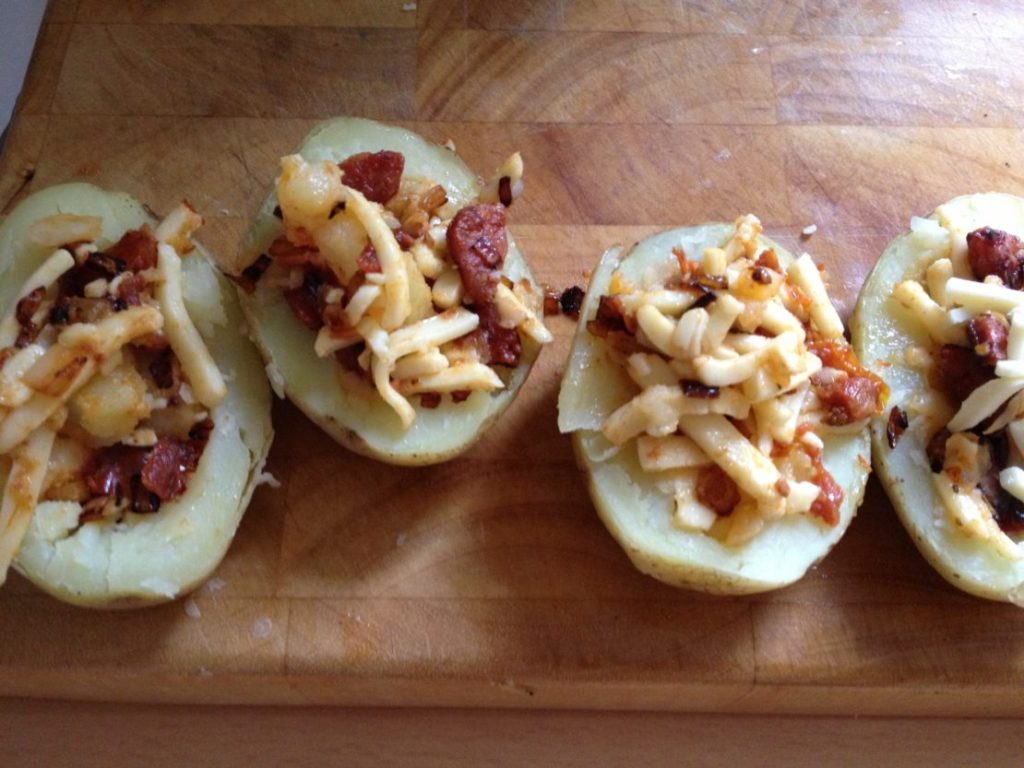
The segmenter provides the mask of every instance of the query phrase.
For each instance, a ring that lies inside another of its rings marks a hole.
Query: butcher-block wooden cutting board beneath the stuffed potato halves
[[[1012,0],[53,0],[0,205],[72,179],[157,211],[186,197],[230,253],[278,158],[362,115],[451,137],[481,173],[521,151],[511,227],[551,286],[609,245],[750,211],[825,263],[849,316],[912,214],[1024,194],[1022,37]],[[440,467],[375,464],[276,403],[281,487],[186,600],[95,612],[11,578],[0,694],[1024,714],[1024,613],[946,586],[873,480],[788,589],[711,598],[635,571],[556,429],[572,325],[550,325],[519,399]]]

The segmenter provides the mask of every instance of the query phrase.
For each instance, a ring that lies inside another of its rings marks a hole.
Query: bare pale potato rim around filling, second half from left
[[[428,178],[444,187],[447,199],[461,208],[480,196],[476,175],[444,146],[432,144],[410,131],[358,118],[338,118],[314,128],[296,150],[308,162],[339,163],[358,153],[391,151],[404,157],[404,173]],[[274,216],[273,189],[267,195],[243,243],[239,273],[252,264],[283,231]],[[529,268],[511,237],[503,273],[512,282],[526,278]],[[294,316],[281,291],[257,283],[240,299],[250,322],[253,341],[266,361],[274,390],[291,399],[317,426],[357,454],[396,465],[419,466],[447,461],[474,442],[511,403],[540,352],[540,344],[522,340],[517,366],[501,373],[504,388],[473,392],[462,402],[444,398],[436,408],[414,403],[415,422],[403,429],[378,392],[347,386],[338,366],[313,350],[315,333]]]

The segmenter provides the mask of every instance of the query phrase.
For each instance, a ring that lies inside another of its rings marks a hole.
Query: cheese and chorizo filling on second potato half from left
[[[525,337],[552,340],[543,292],[502,273],[505,208],[521,178],[516,154],[479,202],[457,210],[441,184],[404,173],[400,153],[338,164],[286,157],[284,232],[239,281],[282,291],[316,332],[315,353],[337,361],[339,385],[376,390],[409,429],[413,396],[436,408],[502,389]]]

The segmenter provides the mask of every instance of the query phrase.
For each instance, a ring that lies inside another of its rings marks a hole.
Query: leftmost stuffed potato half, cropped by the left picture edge
[[[269,388],[230,283],[190,242],[201,221],[71,183],[0,224],[2,570],[13,556],[61,600],[197,587],[260,478]]]

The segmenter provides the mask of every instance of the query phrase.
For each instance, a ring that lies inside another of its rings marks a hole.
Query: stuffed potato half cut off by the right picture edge
[[[950,584],[1024,600],[1020,418],[1024,199],[967,195],[914,218],[851,323],[891,389],[874,467],[918,549]]]

